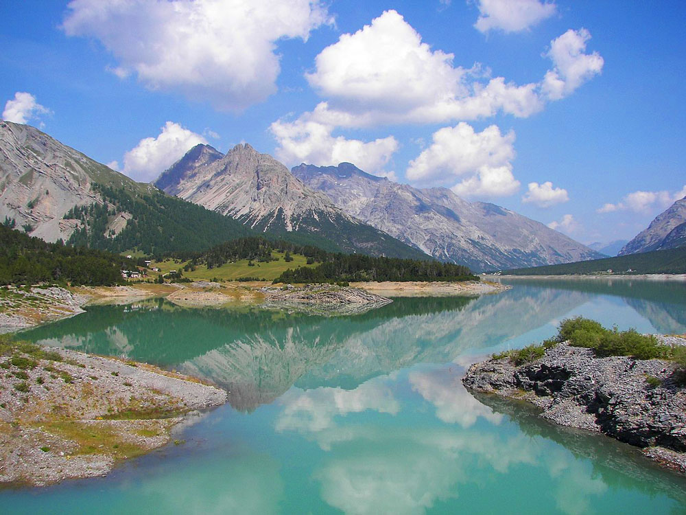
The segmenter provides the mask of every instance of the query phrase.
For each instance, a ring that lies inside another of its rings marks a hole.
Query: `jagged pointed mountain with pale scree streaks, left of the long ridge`
[[[237,145],[224,156],[210,146],[195,146],[155,184],[167,194],[292,241],[331,251],[428,259],[353,218],[248,144]]]

